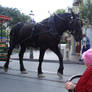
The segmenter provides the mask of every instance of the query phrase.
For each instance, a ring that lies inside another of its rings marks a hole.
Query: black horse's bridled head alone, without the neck
[[[71,13],[71,18],[68,22],[69,32],[73,35],[76,41],[82,40],[82,21],[78,14]]]

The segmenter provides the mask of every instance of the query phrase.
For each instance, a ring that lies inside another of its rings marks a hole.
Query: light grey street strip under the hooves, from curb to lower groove
[[[37,76],[37,68],[38,68],[38,62],[27,62],[24,60],[24,66],[28,71],[28,74],[21,74],[19,69],[19,61],[18,60],[12,60],[9,65],[9,70],[7,73],[4,72],[2,69],[5,62],[0,62],[0,73],[8,74],[12,76],[18,76],[18,77],[25,77],[25,78],[33,78],[33,79],[39,79]],[[59,78],[57,76],[57,70],[59,67],[59,63],[47,63],[43,62],[43,72],[45,77],[41,78],[42,80],[47,81],[54,81],[54,82],[65,82],[69,77],[76,75],[76,74],[82,74],[85,71],[85,65],[79,65],[79,64],[64,64],[64,75],[63,78]]]

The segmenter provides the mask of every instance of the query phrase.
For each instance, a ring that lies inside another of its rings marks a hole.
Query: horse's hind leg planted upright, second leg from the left
[[[20,71],[22,74],[27,74],[26,69],[24,68],[24,64],[23,64],[23,56],[24,56],[25,50],[26,50],[25,47],[21,47],[20,52],[19,52]]]

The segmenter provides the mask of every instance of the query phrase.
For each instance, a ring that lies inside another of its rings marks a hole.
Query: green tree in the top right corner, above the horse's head
[[[86,4],[81,3],[80,16],[85,24],[92,25],[92,3],[90,0],[87,0]]]

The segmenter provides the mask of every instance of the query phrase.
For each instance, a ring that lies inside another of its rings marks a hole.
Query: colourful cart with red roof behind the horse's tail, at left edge
[[[0,61],[7,60],[7,53],[8,53],[8,44],[7,38],[3,36],[3,24],[6,21],[11,20],[11,17],[0,15]]]

